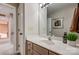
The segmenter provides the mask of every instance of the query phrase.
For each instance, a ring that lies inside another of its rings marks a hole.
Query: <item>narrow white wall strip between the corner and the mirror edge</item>
[[[41,36],[47,35],[47,8],[39,9],[39,34]]]

